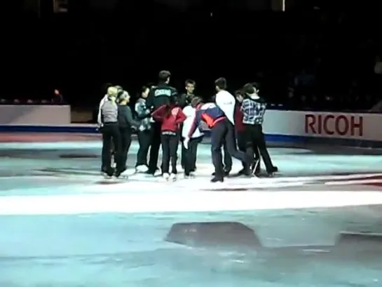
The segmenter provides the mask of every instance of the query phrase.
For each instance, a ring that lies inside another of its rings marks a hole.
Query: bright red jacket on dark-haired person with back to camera
[[[171,109],[170,115],[166,115],[169,108]],[[180,107],[169,107],[168,105],[158,107],[151,115],[157,121],[162,121],[161,131],[171,131],[174,133],[178,131],[179,124],[187,118]]]

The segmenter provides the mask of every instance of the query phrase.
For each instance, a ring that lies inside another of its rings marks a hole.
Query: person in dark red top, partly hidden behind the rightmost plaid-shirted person
[[[243,92],[242,91],[236,91],[235,92],[235,98],[236,98],[236,107],[235,107],[235,129],[236,129],[236,139],[238,141],[238,149],[240,152],[247,152],[247,146],[245,142],[245,132],[244,132],[244,125],[243,125],[243,112],[241,111],[240,107],[244,100]],[[257,163],[257,166],[255,168],[254,174],[257,175],[260,171],[260,161],[257,161],[260,159],[259,149],[257,146],[253,147],[254,150],[254,159]],[[241,169],[236,176],[244,175],[245,173],[245,162],[241,162],[243,165],[243,169]]]

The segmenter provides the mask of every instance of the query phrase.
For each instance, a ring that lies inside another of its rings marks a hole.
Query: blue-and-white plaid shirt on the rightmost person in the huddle
[[[243,112],[243,124],[263,124],[264,114],[266,112],[266,102],[261,98],[246,98],[241,105]]]

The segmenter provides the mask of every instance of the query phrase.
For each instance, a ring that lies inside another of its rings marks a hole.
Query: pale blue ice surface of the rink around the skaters
[[[0,287],[382,286],[376,149],[278,145],[275,178],[211,184],[208,144],[170,183],[104,180],[97,135],[0,141]]]

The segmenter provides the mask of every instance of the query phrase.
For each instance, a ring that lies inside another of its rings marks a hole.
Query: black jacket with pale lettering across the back
[[[146,100],[146,106],[152,110],[158,109],[163,105],[171,105],[177,103],[177,90],[168,84],[158,84],[152,86],[149,97]]]

